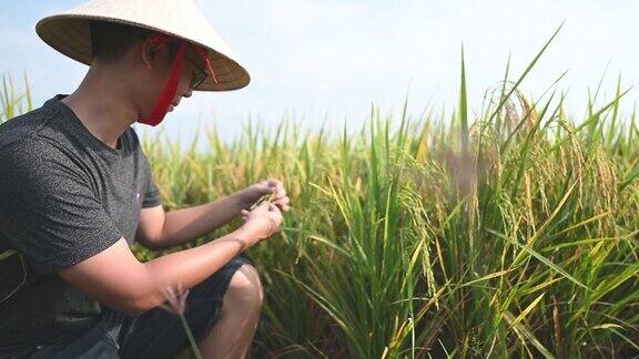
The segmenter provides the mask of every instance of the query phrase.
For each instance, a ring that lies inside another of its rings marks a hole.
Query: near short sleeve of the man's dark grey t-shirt
[[[2,148],[0,168],[0,230],[37,273],[72,266],[122,237],[89,176],[54,146]]]

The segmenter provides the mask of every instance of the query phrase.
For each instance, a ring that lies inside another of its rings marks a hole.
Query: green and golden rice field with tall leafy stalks
[[[579,119],[555,88],[527,99],[539,55],[507,70],[477,116],[462,62],[447,115],[373,106],[351,134],[283,121],[230,144],[214,126],[187,146],[143,139],[166,211],[284,182],[282,232],[246,253],[266,291],[255,358],[639,355],[636,116],[620,114],[621,84]],[[3,84],[0,119],[32,109]]]

